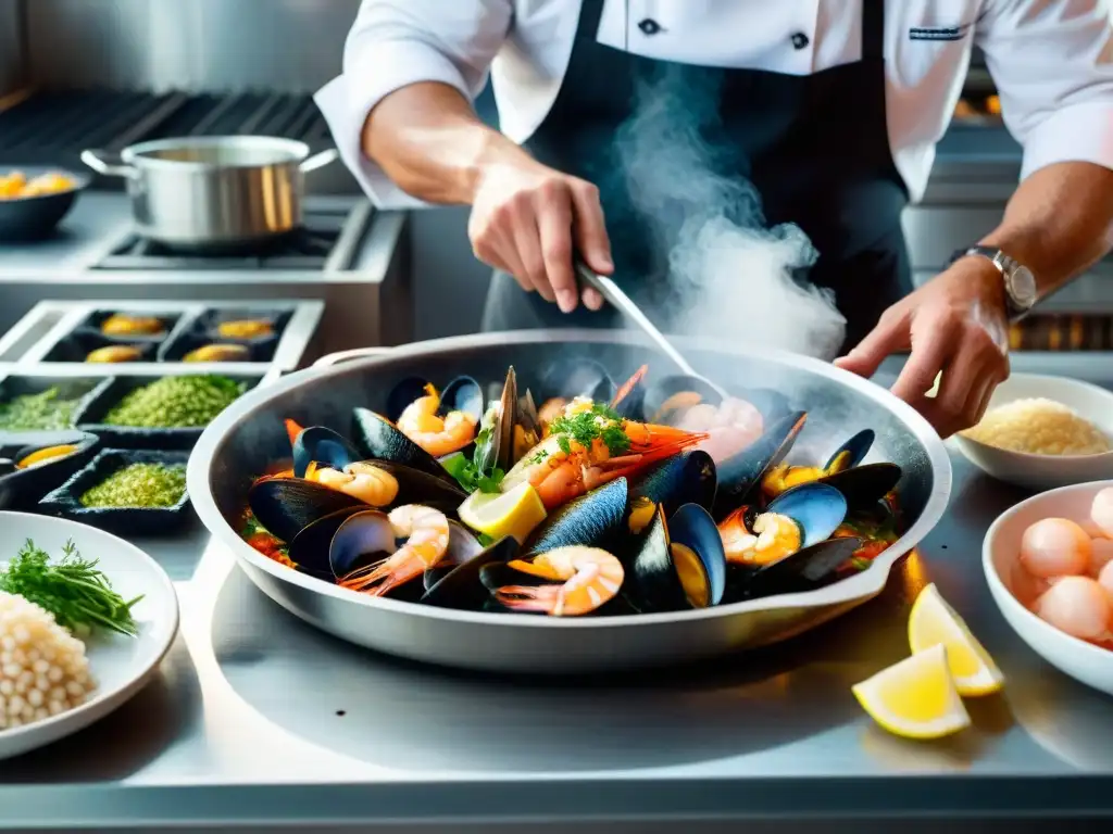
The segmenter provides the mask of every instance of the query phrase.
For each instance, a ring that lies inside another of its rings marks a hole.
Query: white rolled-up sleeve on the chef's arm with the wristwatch
[[[975,28],[1025,178],[1054,162],[1113,169],[1109,0],[988,0]]]

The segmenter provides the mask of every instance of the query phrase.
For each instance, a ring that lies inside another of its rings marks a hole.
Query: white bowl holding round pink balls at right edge
[[[1035,588],[1020,563],[1021,538],[1028,525],[1052,517],[1082,523],[1090,517],[1094,496],[1111,486],[1113,480],[1076,484],[1021,502],[1003,513],[985,534],[982,566],[994,602],[1021,639],[1075,681],[1113,695],[1113,652],[1052,627],[1017,598],[1031,596]]]

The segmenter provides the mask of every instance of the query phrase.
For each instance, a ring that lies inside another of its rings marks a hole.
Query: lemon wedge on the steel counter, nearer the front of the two
[[[969,726],[942,644],[850,687],[861,708],[904,738],[942,738]]]

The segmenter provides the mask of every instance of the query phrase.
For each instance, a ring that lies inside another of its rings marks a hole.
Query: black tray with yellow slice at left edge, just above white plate
[[[48,446],[73,445],[78,449],[57,460],[49,460],[29,469],[6,471],[0,468],[0,509],[33,507],[43,495],[63,484],[67,478],[89,463],[98,438],[85,431],[0,431],[0,458],[19,460],[36,449]],[[2,465],[0,465],[2,466]]]

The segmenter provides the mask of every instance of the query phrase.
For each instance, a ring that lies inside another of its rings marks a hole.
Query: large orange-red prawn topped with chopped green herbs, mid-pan
[[[573,400],[565,415],[578,407],[578,401]],[[617,424],[602,417],[597,418],[597,423],[601,428],[620,426],[630,440],[629,449],[611,456],[610,448],[600,437],[585,445],[567,435],[549,435],[506,473],[502,492],[509,493],[529,483],[538,490],[545,509],[553,509],[615,478],[634,475],[706,437],[650,423],[622,420]]]

